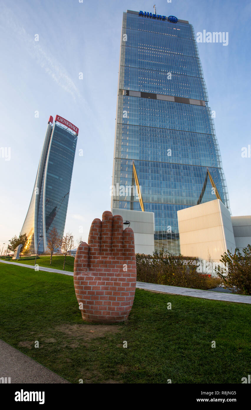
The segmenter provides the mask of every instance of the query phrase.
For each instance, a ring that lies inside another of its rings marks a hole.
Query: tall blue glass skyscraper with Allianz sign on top
[[[178,210],[216,198],[229,208],[212,116],[192,25],[127,10],[112,207],[154,212],[156,250],[179,254]],[[121,189],[137,184],[141,201]]]

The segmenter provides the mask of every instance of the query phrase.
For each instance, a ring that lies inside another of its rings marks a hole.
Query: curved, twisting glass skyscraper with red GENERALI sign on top
[[[50,116],[27,216],[21,234],[28,237],[29,251],[47,250],[53,228],[63,237],[70,194],[78,128],[61,116]]]

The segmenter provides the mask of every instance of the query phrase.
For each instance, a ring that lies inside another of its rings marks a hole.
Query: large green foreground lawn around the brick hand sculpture
[[[7,264],[0,338],[71,383],[241,383],[250,374],[250,305],[137,289],[127,322],[90,324],[72,276]]]

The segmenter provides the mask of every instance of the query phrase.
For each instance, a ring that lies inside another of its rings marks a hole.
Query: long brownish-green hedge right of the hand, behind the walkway
[[[194,289],[213,289],[222,283],[221,278],[212,278],[196,271],[194,258],[185,258],[172,253],[155,252],[151,255],[136,254],[137,280],[139,282],[156,283],[188,287]]]

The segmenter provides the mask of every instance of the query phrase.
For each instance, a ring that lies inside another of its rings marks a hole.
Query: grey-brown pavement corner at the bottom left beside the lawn
[[[1,339],[0,357],[0,378],[6,383],[70,383]]]

